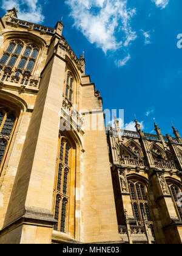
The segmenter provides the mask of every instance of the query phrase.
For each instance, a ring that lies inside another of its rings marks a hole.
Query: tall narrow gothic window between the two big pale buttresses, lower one
[[[67,138],[61,137],[59,157],[56,172],[55,187],[55,219],[58,221],[54,229],[67,232],[67,205],[69,204],[69,177],[70,177],[70,146]]]

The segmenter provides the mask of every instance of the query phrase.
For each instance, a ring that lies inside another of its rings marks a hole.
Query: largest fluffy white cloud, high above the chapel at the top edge
[[[135,9],[127,9],[127,0],[66,0],[80,30],[98,48],[116,51],[136,39],[130,25]]]

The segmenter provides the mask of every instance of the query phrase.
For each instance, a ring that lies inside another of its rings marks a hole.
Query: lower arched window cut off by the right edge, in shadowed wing
[[[172,201],[174,202],[174,205],[175,205],[175,210],[177,212],[178,218],[182,221],[182,207],[178,205],[179,199],[182,195],[182,190],[177,185],[174,185],[171,183],[168,183],[168,187],[169,187],[170,194],[172,196]]]

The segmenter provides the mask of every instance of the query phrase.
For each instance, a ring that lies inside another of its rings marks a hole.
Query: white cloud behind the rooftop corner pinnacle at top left
[[[42,7],[38,3],[38,0],[19,0],[19,6],[15,0],[2,0],[1,8],[3,10],[9,10],[13,7],[19,10],[19,20],[30,21],[33,23],[42,23],[44,21],[44,15],[42,15]]]

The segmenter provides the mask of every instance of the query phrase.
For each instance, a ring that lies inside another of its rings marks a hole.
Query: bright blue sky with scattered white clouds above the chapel
[[[172,122],[182,135],[181,0],[1,0],[0,16],[15,5],[19,19],[45,26],[63,17],[63,35],[78,57],[85,52],[104,109],[124,108],[126,129],[136,115],[144,132],[155,118],[164,135]]]

